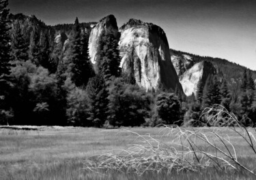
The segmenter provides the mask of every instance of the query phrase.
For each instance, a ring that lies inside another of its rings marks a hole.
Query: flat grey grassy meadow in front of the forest
[[[0,129],[0,179],[256,179],[246,170],[162,170],[136,173],[109,170],[93,172],[85,168],[88,159],[101,154],[118,154],[138,143],[137,134],[148,134],[168,143],[170,134],[160,128],[74,128],[44,127],[38,130]],[[221,136],[229,135],[239,162],[256,168],[256,156],[237,133],[221,128]],[[209,149],[212,151],[212,149]],[[256,170],[253,171],[256,173]]]

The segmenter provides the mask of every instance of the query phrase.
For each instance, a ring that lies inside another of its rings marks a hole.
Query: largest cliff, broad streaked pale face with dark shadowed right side
[[[177,87],[182,91],[171,62],[167,37],[159,26],[130,19],[119,32],[123,73],[132,76],[146,90]]]

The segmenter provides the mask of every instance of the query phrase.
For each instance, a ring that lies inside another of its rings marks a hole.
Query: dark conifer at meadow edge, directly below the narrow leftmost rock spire
[[[106,90],[102,76],[91,77],[87,83],[86,91],[89,98],[89,118],[87,120],[96,127],[102,127],[109,111],[109,92]]]

